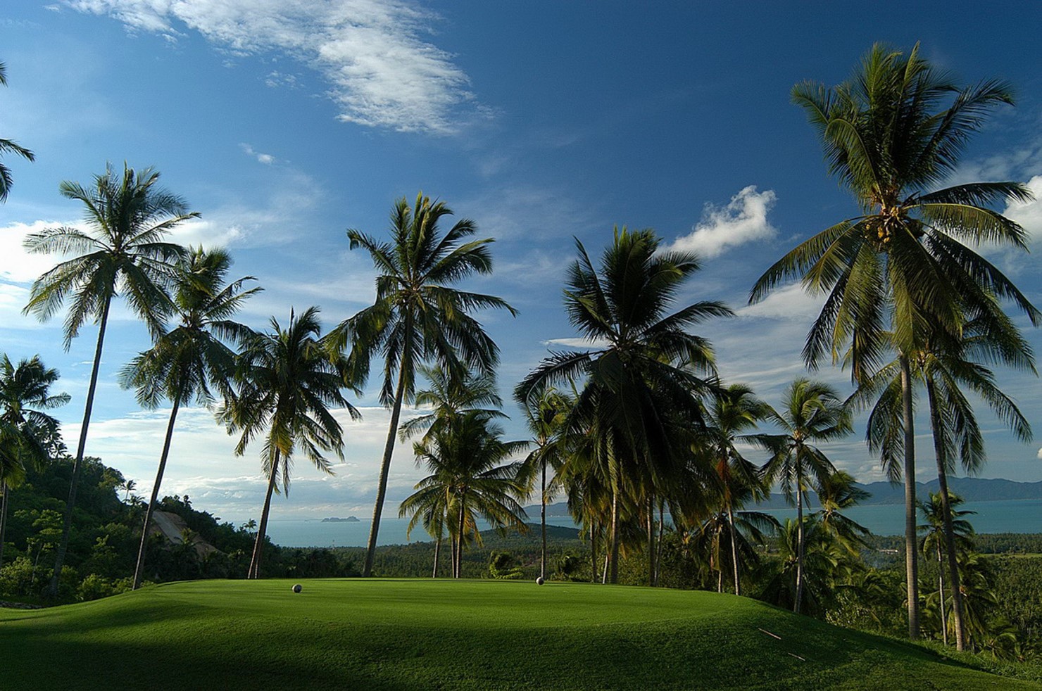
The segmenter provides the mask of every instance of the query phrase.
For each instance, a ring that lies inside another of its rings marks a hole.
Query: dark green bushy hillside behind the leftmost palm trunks
[[[59,603],[96,599],[128,590],[141,542],[144,504],[119,470],[96,458],[80,470],[73,531],[59,579]],[[53,551],[61,533],[72,459],[42,469],[8,495],[0,599],[38,604],[51,578]],[[165,516],[150,531],[146,579],[152,582],[244,578],[256,537],[250,523],[233,526],[193,508],[189,496],[167,496],[156,507]],[[158,521],[157,521],[158,522]],[[313,578],[352,575],[350,562],[325,549],[288,549],[265,543],[265,574]]]

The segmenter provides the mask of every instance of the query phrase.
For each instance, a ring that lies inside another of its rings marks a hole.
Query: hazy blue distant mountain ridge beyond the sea
[[[872,482],[867,485],[854,483],[871,496],[861,506],[889,505],[904,503],[904,485],[892,485],[889,482]],[[938,491],[937,480],[916,483],[916,496],[924,500],[929,492]],[[1009,502],[1017,500],[1042,500],[1042,481],[1016,482],[1013,480],[989,478],[948,478],[948,491],[951,491],[967,502]],[[817,497],[811,492],[809,506],[817,507]],[[747,507],[752,508],[752,507]],[[789,503],[784,494],[771,494],[770,498],[756,506],[759,509],[787,509]],[[529,520],[539,520],[539,505],[527,506]],[[546,507],[547,516],[567,516],[568,505],[565,503],[549,504]]]

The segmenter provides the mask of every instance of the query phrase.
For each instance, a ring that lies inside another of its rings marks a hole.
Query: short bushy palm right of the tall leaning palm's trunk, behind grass
[[[426,441],[414,444],[417,461],[432,471],[401,503],[400,514],[437,512],[444,508],[453,538],[453,578],[463,573],[463,548],[480,544],[477,518],[495,527],[525,530],[525,511],[518,498],[527,492],[521,462],[506,462],[522,453],[526,441],[503,441],[502,428],[482,411],[448,418]]]

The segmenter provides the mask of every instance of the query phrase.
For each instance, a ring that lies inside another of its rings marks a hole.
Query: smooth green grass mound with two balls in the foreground
[[[294,594],[291,585],[174,583],[0,611],[0,687],[1042,688],[731,595],[420,580],[305,581]]]

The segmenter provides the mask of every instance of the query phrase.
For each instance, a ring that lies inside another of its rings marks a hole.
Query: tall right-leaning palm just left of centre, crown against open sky
[[[432,202],[420,193],[413,208],[404,198],[395,203],[390,242],[381,242],[358,230],[347,231],[351,249],[364,248],[376,266],[376,302],[337,327],[330,334],[329,346],[338,352],[350,346],[352,377],[361,383],[365,383],[373,356],[382,355],[380,403],[391,408],[391,426],[362,569],[365,577],[373,570],[395,434],[402,403],[414,396],[417,366],[436,362],[453,379],[463,379],[467,372],[491,374],[499,359],[499,349],[469,312],[495,308],[517,313],[499,298],[450,287],[475,272],[492,272],[488,245],[493,241],[492,238],[468,240],[477,230],[468,219],[456,222],[441,235],[438,223],[451,213],[444,202]]]

